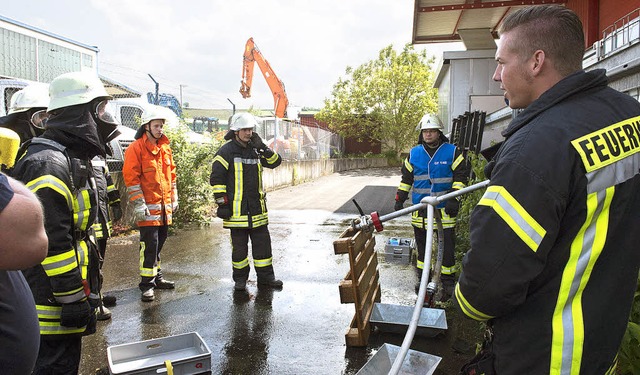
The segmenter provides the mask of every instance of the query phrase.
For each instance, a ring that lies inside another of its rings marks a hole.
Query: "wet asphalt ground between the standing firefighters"
[[[273,264],[282,290],[258,288],[252,269],[247,291],[234,291],[229,232],[214,219],[209,227],[177,230],[168,238],[162,269],[176,288],[156,290],[155,301],[142,302],[137,233],[110,239],[103,289],[117,305],[111,320],[98,322],[97,332],[83,338],[80,373],[108,373],[109,346],[187,332],[202,336],[213,374],[357,373],[380,345],[401,345],[403,336],[372,334],[368,347],[346,346],[355,310],[340,303],[338,284],[349,260],[334,254],[333,241],[358,216],[353,198],[365,213],[383,215],[393,209],[399,181],[399,168],[365,169],[270,192]],[[415,303],[413,266],[384,257],[389,237],[412,236],[408,217],[385,223],[375,235],[383,303]],[[425,352],[439,345],[438,339],[414,344]]]

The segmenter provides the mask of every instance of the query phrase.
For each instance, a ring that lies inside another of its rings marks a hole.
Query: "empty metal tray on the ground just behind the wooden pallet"
[[[413,315],[413,306],[376,303],[369,322],[382,332],[405,334]],[[418,319],[416,335],[435,337],[447,329],[445,311],[423,307]]]

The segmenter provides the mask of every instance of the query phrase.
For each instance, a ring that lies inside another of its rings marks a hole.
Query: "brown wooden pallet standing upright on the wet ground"
[[[380,274],[376,240],[373,231],[348,228],[333,242],[336,255],[349,255],[349,272],[340,281],[338,289],[341,303],[353,303],[355,314],[345,340],[347,346],[368,345],[371,326],[369,319],[375,302],[380,302]]]

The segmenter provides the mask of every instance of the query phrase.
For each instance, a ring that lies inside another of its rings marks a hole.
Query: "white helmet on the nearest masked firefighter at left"
[[[65,73],[49,84],[49,107],[54,109],[89,103],[96,98],[111,99],[97,75],[85,72]]]

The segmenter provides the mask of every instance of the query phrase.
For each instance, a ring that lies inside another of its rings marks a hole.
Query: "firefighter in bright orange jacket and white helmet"
[[[142,125],[124,154],[122,175],[140,228],[142,301],[155,299],[154,289],[173,289],[161,271],[160,252],[178,209],[176,165],[169,138],[162,133],[167,118],[155,110],[143,114]]]

